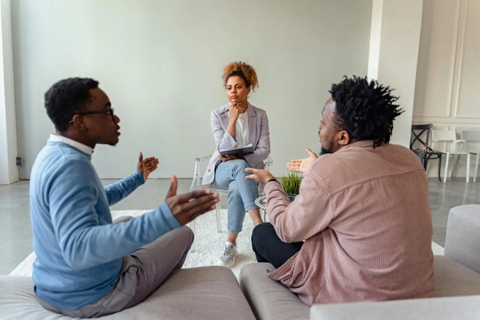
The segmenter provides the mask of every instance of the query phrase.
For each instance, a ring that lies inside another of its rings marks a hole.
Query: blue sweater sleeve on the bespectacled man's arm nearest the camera
[[[78,159],[60,166],[50,183],[52,226],[64,260],[74,269],[121,258],[180,227],[166,202],[128,222],[100,225],[97,188],[94,168]]]

